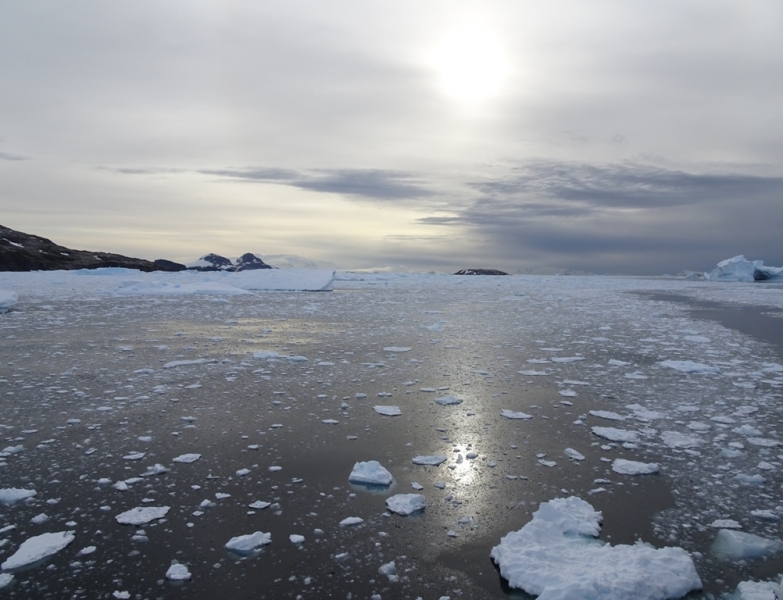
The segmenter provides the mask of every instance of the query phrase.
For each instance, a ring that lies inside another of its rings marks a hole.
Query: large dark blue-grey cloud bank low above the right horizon
[[[739,253],[783,264],[781,177],[538,162],[469,185],[482,193],[470,206],[419,222],[467,228],[503,264],[660,274]]]

